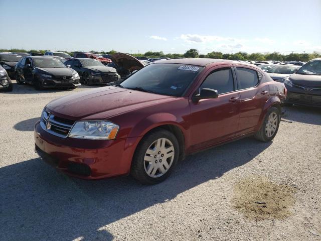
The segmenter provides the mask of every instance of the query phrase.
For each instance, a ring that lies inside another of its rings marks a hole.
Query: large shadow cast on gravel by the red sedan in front
[[[215,180],[252,161],[269,145],[246,138],[191,155],[169,179],[153,186],[130,177],[70,178],[40,158],[0,168],[2,239],[112,240],[113,235],[101,227]]]

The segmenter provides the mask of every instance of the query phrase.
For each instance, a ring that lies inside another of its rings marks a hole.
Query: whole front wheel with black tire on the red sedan
[[[179,153],[179,142],[174,134],[164,129],[156,129],[144,136],[138,144],[130,174],[142,184],[163,182],[176,166]],[[164,155],[168,156],[166,160]]]

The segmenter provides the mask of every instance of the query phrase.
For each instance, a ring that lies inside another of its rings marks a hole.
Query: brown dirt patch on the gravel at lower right
[[[232,204],[245,216],[256,219],[285,218],[292,214],[295,188],[266,177],[251,176],[234,186]]]

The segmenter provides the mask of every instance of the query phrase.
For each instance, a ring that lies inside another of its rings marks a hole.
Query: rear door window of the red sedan
[[[236,78],[239,89],[255,87],[259,83],[257,72],[248,68],[236,67]]]

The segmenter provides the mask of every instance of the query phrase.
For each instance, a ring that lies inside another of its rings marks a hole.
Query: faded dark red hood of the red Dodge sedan
[[[75,121],[106,119],[173,99],[175,97],[106,86],[55,99],[47,105],[47,109],[55,115]]]

